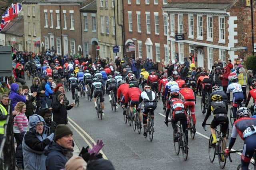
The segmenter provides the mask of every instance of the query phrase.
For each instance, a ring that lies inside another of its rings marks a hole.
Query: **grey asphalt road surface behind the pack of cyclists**
[[[32,80],[30,80],[32,81]],[[71,102],[71,92],[66,92],[68,100]],[[201,112],[200,97],[196,102],[196,135],[195,139],[188,139],[188,160],[184,161],[182,154],[176,155],[174,152],[172,133],[173,129],[164,124],[165,113],[162,110],[162,102],[158,102],[158,107],[154,111],[154,139],[150,142],[133,131],[132,127],[124,123],[122,109],[120,106],[113,112],[105,96],[105,116],[98,119],[93,102],[86,98],[80,98],[79,107],[74,106],[68,111],[68,125],[72,128],[73,139],[76,143],[74,154],[78,154],[82,147],[92,147],[98,139],[103,140],[104,147],[101,150],[103,157],[109,159],[116,170],[219,170],[218,156],[213,163],[208,158],[208,142],[210,127],[204,131],[201,124],[205,115]],[[249,105],[250,106],[250,105]],[[211,115],[207,121],[213,119]],[[143,129],[142,129],[143,131]],[[231,134],[232,127],[229,127]],[[243,141],[238,137],[233,147],[235,150],[242,149]],[[240,164],[240,155],[231,155],[233,162],[227,160],[225,169],[234,170]],[[252,167],[251,167],[252,168]]]

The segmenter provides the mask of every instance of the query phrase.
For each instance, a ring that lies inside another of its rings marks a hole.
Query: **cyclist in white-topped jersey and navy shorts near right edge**
[[[244,94],[241,84],[237,83],[237,79],[235,77],[230,79],[230,84],[227,88],[228,98],[230,98],[230,92],[233,93],[233,118],[234,121],[236,121],[237,107],[239,105],[241,106],[241,102],[244,100]]]

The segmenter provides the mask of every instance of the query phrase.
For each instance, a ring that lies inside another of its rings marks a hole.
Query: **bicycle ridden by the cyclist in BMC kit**
[[[176,154],[179,155],[180,149],[181,149],[183,159],[187,160],[188,159],[188,140],[186,138],[185,133],[182,131],[181,121],[177,121],[175,125],[177,127],[178,140],[175,141],[173,137],[174,150]]]

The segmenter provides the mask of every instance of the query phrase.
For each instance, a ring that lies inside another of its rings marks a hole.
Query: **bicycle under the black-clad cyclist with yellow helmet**
[[[222,129],[222,125],[224,125],[225,123],[226,122],[219,123],[220,129]],[[206,124],[206,125],[210,125],[210,124]],[[212,134],[211,134],[210,139],[209,139],[209,144],[208,144],[208,156],[209,156],[210,162],[213,162],[215,159],[215,156],[218,155],[220,168],[223,169],[226,165],[226,156],[225,156],[226,141],[225,141],[224,137],[221,137],[222,132],[219,131],[217,129],[217,127],[215,128],[217,143],[214,146],[212,145],[213,138],[212,138]],[[204,127],[204,130],[206,131],[205,127]]]

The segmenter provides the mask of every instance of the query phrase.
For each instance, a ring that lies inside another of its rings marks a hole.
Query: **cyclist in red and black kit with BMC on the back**
[[[179,87],[178,86],[172,86],[171,92],[170,92],[170,106],[172,109],[172,128],[173,128],[173,135],[174,135],[174,142],[178,141],[178,134],[177,134],[177,127],[176,123],[178,121],[181,121],[182,124],[182,131],[186,135],[186,139],[188,142],[188,121],[187,121],[187,115],[186,115],[186,109],[184,106],[184,102],[179,99]]]

